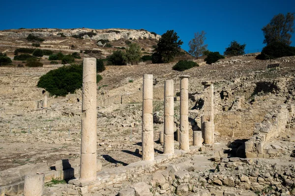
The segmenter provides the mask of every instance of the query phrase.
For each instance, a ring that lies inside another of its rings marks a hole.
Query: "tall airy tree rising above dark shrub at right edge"
[[[290,45],[291,33],[294,33],[294,14],[288,12],[286,16],[284,14],[275,15],[270,23],[262,28],[265,39],[264,44],[268,45],[271,42],[282,42]]]

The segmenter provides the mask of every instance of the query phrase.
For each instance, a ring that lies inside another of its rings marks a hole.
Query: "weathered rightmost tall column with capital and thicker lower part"
[[[201,130],[205,144],[214,144],[214,86],[211,81],[204,85],[204,116],[201,118]]]

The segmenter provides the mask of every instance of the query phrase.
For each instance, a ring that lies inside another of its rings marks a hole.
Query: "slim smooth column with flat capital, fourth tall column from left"
[[[180,77],[180,139],[179,148],[189,150],[188,132],[188,78],[189,75]]]

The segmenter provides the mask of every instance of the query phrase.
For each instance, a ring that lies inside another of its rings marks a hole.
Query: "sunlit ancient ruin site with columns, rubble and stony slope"
[[[295,195],[295,58],[278,61],[230,57],[180,79],[173,63],[117,66],[96,84],[84,58],[66,97],[36,87],[54,66],[1,67],[0,196]]]

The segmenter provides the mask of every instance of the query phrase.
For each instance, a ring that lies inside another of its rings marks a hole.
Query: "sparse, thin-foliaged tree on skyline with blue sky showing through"
[[[207,44],[204,44],[206,40],[206,32],[201,31],[201,33],[197,32],[195,33],[195,37],[189,41],[188,46],[189,50],[188,53],[190,53],[192,56],[194,56],[196,59],[205,51],[207,50]]]

